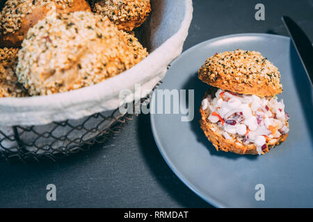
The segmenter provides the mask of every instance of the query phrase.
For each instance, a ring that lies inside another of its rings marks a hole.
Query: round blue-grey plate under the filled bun
[[[266,155],[217,152],[198,123],[208,85],[198,80],[197,71],[214,53],[234,49],[261,52],[282,74],[290,132]],[[159,89],[194,89],[193,121],[181,121],[183,114],[151,114],[151,122],[164,159],[201,198],[216,207],[313,207],[312,88],[289,37],[251,33],[202,42],[172,62]],[[155,101],[157,94],[151,110],[158,106]],[[265,200],[255,199],[258,184],[264,185]]]

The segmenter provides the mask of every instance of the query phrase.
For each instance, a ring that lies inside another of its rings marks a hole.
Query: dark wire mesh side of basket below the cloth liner
[[[147,95],[138,103],[133,102],[132,113],[121,114],[116,109],[44,126],[0,126],[0,161],[56,161],[73,153],[88,151],[93,144],[106,142],[120,133],[138,115],[138,105],[147,105],[149,101],[150,96]]]

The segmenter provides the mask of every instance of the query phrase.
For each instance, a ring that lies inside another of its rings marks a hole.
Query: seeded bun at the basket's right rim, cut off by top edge
[[[93,12],[109,17],[124,31],[141,26],[151,12],[150,0],[93,0],[91,5]]]

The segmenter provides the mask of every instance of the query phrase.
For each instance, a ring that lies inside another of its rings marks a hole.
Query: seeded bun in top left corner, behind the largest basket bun
[[[0,46],[20,46],[29,28],[54,11],[91,9],[86,0],[8,0],[0,12]]]

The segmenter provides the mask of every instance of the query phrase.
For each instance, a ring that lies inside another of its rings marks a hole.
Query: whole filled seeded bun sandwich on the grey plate
[[[198,75],[212,86],[202,99],[200,127],[217,151],[261,155],[287,139],[289,115],[276,96],[280,72],[260,53],[216,53]]]

